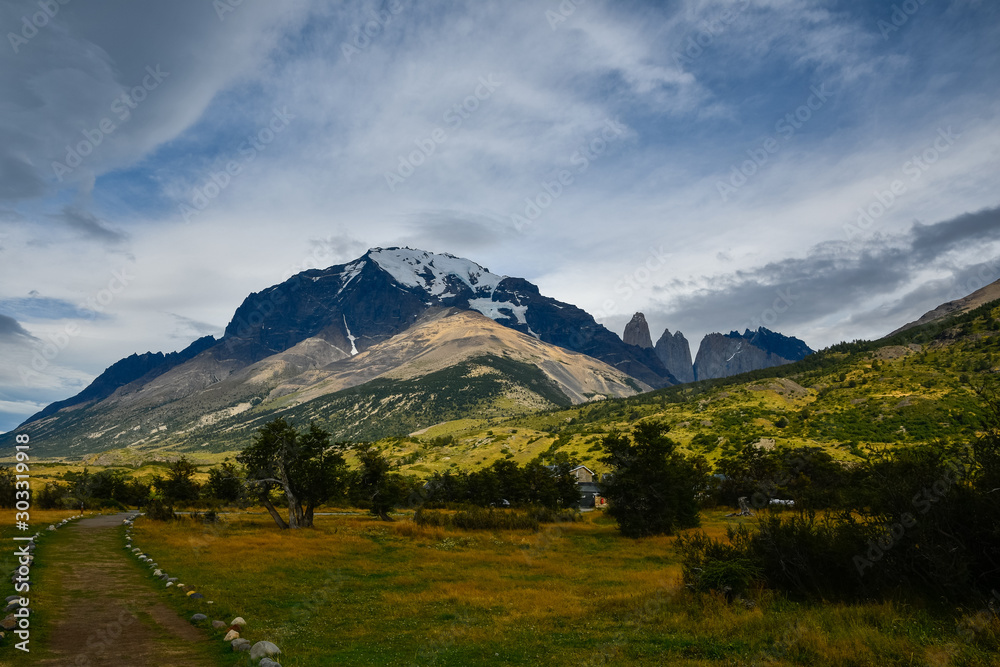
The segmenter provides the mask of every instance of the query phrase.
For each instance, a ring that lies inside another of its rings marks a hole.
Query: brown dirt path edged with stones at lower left
[[[218,665],[208,635],[168,607],[122,549],[125,516],[81,519],[39,550],[44,569],[33,597],[45,609],[47,629],[32,656],[41,659],[32,663]]]

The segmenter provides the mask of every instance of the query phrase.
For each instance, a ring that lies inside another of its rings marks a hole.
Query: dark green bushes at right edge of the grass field
[[[1000,397],[992,385],[980,395],[974,444],[875,450],[842,489],[851,510],[822,521],[765,515],[756,530],[730,531],[728,544],[687,541],[686,580],[712,588],[706,572],[735,568],[804,598],[981,604],[1000,587]]]

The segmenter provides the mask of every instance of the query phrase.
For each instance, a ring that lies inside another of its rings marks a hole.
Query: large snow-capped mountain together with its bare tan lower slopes
[[[525,391],[516,380],[479,392],[486,402],[506,397],[515,411],[676,383],[652,349],[625,344],[525,280],[451,255],[373,249],[251,294],[221,340],[116,363],[21,430],[73,453],[173,445],[195,432],[209,443],[216,425],[235,428],[244,413],[291,409],[376,379],[382,392],[385,383],[412,384],[474,356],[503,359],[504,368],[531,380]],[[438,399],[467,405],[462,396]]]

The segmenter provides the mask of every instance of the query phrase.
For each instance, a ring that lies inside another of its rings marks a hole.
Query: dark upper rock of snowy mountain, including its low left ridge
[[[255,292],[236,310],[221,340],[202,338],[169,355],[133,355],[25,423],[93,405],[118,391],[174,400],[275,355],[282,355],[275,361],[292,365],[323,365],[386,341],[439,308],[481,313],[537,340],[605,361],[650,387],[676,383],[651,349],[626,345],[583,310],[542,296],[526,280],[490,273],[452,255],[375,248],[348,264],[304,271]],[[146,387],[166,373],[170,382]]]

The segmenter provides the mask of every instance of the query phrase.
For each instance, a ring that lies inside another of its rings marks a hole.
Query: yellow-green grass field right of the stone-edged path
[[[721,535],[721,512],[704,529]],[[996,635],[906,605],[727,603],[683,590],[673,538],[627,540],[599,513],[539,533],[320,516],[220,525],[140,519],[161,567],[242,615],[293,665],[995,665]],[[176,595],[185,613],[197,602]],[[994,628],[995,630],[995,628]]]

